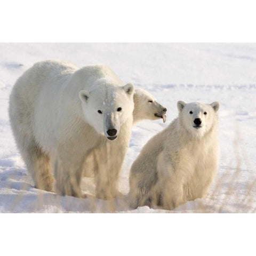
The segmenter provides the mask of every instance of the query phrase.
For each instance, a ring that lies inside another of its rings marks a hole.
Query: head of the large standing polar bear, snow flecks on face
[[[93,86],[90,92],[80,91],[84,118],[99,134],[115,140],[122,124],[132,116],[133,92],[133,84],[117,86],[106,81]]]

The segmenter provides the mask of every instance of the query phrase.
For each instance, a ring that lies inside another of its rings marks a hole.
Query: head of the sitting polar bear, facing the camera
[[[181,124],[185,129],[195,136],[203,137],[217,121],[220,103],[218,101],[211,104],[178,101],[177,106]]]

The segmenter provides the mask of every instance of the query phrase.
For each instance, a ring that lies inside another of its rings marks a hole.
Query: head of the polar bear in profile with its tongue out
[[[156,120],[163,118],[165,123],[167,109],[160,105],[150,93],[142,89],[135,89],[133,100],[133,122],[142,119]]]

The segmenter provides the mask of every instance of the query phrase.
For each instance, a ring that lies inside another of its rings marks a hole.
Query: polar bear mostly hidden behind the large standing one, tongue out
[[[159,104],[149,92],[137,88],[133,94],[133,125],[144,119],[156,120],[163,118],[166,122],[167,109]],[[84,164],[84,177],[93,177],[95,169],[97,169],[97,161],[94,156],[94,150],[86,157]]]

